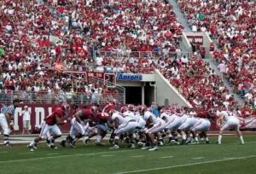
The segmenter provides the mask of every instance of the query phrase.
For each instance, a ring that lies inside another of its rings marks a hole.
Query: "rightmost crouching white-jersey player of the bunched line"
[[[203,136],[206,138],[206,143],[209,143],[209,138],[207,136],[207,131],[209,131],[211,127],[211,122],[209,119],[203,118],[195,118],[195,125],[191,128],[191,131],[195,133],[195,143],[199,143],[198,141],[198,133],[201,132]]]

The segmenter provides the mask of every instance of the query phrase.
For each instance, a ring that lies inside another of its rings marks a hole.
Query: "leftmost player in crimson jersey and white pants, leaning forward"
[[[58,125],[64,125],[66,122],[64,117],[69,114],[70,106],[68,104],[62,104],[61,107],[56,107],[53,113],[50,113],[42,123],[42,129],[40,135],[36,137],[27,146],[31,151],[37,148],[37,143],[46,139],[47,134],[50,132],[52,136],[49,137],[50,148],[55,148],[55,139],[61,137],[61,130]]]

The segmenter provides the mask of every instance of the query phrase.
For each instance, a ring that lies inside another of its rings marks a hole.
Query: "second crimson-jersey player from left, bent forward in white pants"
[[[71,119],[71,129],[66,140],[61,141],[61,146],[66,147],[66,142],[75,148],[75,142],[84,136],[84,125],[86,122],[90,121],[94,116],[93,110],[91,108],[82,108],[78,112],[74,113],[73,119]]]

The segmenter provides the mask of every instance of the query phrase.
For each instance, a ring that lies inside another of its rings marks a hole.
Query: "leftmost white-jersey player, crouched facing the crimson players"
[[[110,119],[113,122],[113,125],[108,125],[109,127],[113,127],[114,129],[114,144],[111,149],[119,148],[119,135],[123,133],[132,133],[136,130],[138,124],[135,119],[131,119],[130,117],[125,117],[122,113],[111,110],[109,112]],[[108,122],[109,124],[109,122]]]

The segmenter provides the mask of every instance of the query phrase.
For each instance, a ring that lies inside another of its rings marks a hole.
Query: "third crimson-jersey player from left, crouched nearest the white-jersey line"
[[[96,123],[96,126],[93,131],[90,132],[89,136],[84,137],[84,144],[90,140],[91,137],[98,135],[96,139],[96,145],[102,146],[102,139],[106,136],[108,126],[106,125],[108,121],[108,113],[97,113],[92,119],[91,122]]]

